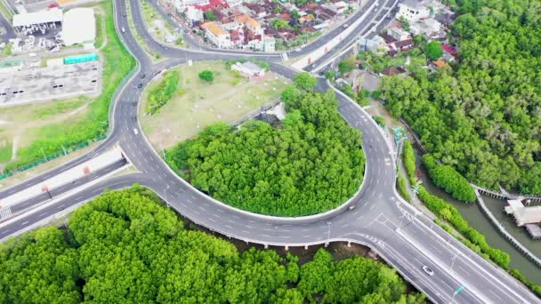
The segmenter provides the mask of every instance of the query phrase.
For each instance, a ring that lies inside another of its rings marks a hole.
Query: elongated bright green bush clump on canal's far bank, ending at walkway
[[[453,167],[436,163],[436,160],[430,154],[423,156],[423,164],[426,166],[434,184],[443,188],[445,192],[466,203],[473,203],[477,200],[475,191],[473,191],[468,180],[464,179]]]

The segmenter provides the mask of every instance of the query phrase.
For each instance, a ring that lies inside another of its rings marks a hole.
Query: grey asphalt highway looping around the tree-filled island
[[[17,231],[71,205],[90,200],[104,188],[126,188],[137,182],[154,190],[182,216],[223,236],[254,244],[288,247],[335,241],[366,244],[436,303],[541,303],[532,292],[504,270],[480,258],[398,196],[394,187],[396,169],[390,139],[364,110],[341,93],[336,94],[339,100],[338,110],[348,124],[363,133],[363,149],[367,156],[363,185],[346,208],[304,218],[269,217],[222,204],[180,179],[150,147],[141,132],[138,120],[133,118],[137,116],[137,103],[141,99],[144,85],[165,68],[177,66],[186,60],[227,60],[238,57],[238,54],[218,50],[194,52],[160,44],[152,39],[144,27],[138,2],[130,1],[138,34],[153,52],[170,59],[157,65],[152,64],[141,45],[135,41],[127,19],[122,16],[125,2],[115,1],[117,32],[137,59],[138,67],[114,100],[110,116],[112,131],[108,140],[90,154],[44,175],[52,175],[73,164],[80,164],[115,143],[119,143],[141,173],[104,180],[56,204],[48,205],[40,212],[28,213],[18,220],[12,220],[8,225],[0,227],[0,238],[16,234]],[[385,7],[388,10],[390,3],[379,5],[378,10],[383,11]],[[371,18],[381,16],[378,11]],[[366,20],[362,23],[367,26],[374,21]],[[118,28],[122,27],[125,27],[126,31],[120,34]],[[292,78],[297,73],[292,68],[282,66],[275,55],[255,56],[268,60],[271,70],[282,76]],[[146,77],[143,78],[143,74]],[[138,84],[142,84],[143,88],[137,88]],[[319,79],[317,91],[325,92],[329,88],[324,80]],[[134,132],[134,129],[139,132]],[[38,182],[36,180],[43,180],[43,176],[28,180],[22,185],[31,185]],[[23,187],[6,189],[0,193],[0,197]],[[348,206],[354,206],[354,209],[350,210]],[[423,266],[432,268],[433,276],[427,275],[422,269]],[[464,286],[464,290],[456,292],[461,286]]]

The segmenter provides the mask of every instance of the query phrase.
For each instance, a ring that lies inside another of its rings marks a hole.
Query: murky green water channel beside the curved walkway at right
[[[516,250],[512,244],[507,242],[504,236],[502,236],[497,228],[495,228],[485,214],[480,210],[478,204],[465,204],[464,202],[457,201],[453,197],[449,196],[443,190],[438,188],[432,183],[428,177],[428,173],[424,171],[424,167],[420,164],[420,157],[416,150],[417,168],[422,170],[421,180],[423,180],[424,188],[435,196],[440,196],[445,199],[449,204],[456,207],[458,212],[462,214],[464,220],[468,222],[470,227],[477,229],[489,243],[490,246],[500,249],[509,253],[511,262],[510,268],[517,268],[521,271],[522,275],[529,278],[535,284],[541,284],[541,268],[529,260],[524,254]],[[500,220],[505,226],[505,229],[513,235],[521,244],[529,249],[530,252],[541,257],[541,240],[532,240],[525,228],[516,227],[513,222],[513,218],[508,216],[504,212],[504,206],[506,202],[504,200],[483,196],[483,200],[490,212]]]

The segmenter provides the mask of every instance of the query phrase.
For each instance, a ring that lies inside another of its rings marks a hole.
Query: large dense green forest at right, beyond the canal
[[[464,0],[454,9],[459,62],[385,78],[388,108],[467,180],[539,195],[541,3]]]

